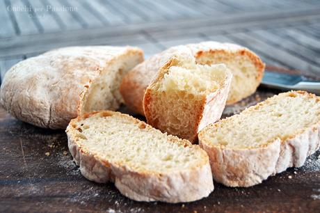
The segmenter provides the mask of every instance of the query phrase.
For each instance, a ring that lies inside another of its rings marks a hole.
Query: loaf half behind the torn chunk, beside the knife
[[[233,78],[227,104],[233,104],[254,93],[262,79],[264,63],[245,47],[211,41],[171,47],[137,65],[122,79],[120,93],[131,111],[144,115],[143,96],[147,86],[173,55],[182,52],[191,52],[197,63],[224,63],[230,68]]]

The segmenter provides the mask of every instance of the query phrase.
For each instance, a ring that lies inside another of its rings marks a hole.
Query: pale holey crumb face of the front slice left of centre
[[[72,123],[77,143],[115,164],[125,163],[138,171],[157,173],[197,166],[205,156],[189,141],[162,134],[121,113],[102,111],[83,118]]]

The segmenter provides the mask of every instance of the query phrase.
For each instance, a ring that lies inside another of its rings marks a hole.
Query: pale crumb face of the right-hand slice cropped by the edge
[[[320,121],[319,97],[303,91],[280,93],[205,128],[200,137],[221,148],[260,148],[285,141]]]

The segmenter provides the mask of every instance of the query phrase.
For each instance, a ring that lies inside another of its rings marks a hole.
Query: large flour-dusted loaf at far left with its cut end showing
[[[0,103],[38,127],[64,129],[84,112],[115,110],[120,82],[143,61],[136,47],[65,47],[28,58],[6,73]]]

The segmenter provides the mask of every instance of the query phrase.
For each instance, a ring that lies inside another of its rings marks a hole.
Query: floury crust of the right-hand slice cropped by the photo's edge
[[[304,91],[296,91],[320,102],[320,97]],[[250,107],[262,107],[265,102]],[[223,119],[220,122],[225,122]],[[231,149],[211,145],[204,135],[211,124],[199,134],[199,145],[208,153],[211,171],[216,182],[228,187],[250,187],[261,183],[269,176],[281,173],[289,167],[303,166],[305,159],[320,148],[320,121],[287,139],[269,141],[260,148]]]

